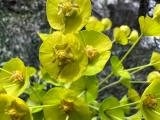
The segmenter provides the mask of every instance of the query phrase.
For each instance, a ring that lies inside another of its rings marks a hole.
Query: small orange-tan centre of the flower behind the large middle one
[[[87,54],[89,60],[93,60],[98,54],[97,49],[93,48],[90,45],[86,46],[85,51],[86,51],[86,54]]]

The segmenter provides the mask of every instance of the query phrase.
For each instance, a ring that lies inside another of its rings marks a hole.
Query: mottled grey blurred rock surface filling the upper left
[[[38,67],[38,31],[49,31],[44,0],[0,0],[0,63],[18,56]]]

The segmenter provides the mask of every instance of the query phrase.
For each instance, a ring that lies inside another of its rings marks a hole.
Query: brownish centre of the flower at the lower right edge
[[[155,109],[157,107],[157,104],[158,104],[158,101],[156,97],[150,94],[147,95],[146,99],[143,101],[144,106],[152,109]]]

